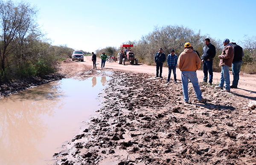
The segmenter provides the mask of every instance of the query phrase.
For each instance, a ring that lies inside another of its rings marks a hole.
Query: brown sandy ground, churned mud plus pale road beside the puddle
[[[54,154],[56,165],[256,165],[256,110],[247,106],[256,100],[255,75],[242,74],[239,89],[232,92],[200,83],[204,103],[189,84],[192,103],[186,104],[178,69],[179,83],[165,83],[152,78],[154,66],[106,63],[96,71],[90,58],[64,61],[61,73],[86,78],[104,70],[113,75],[100,94],[98,115]],[[167,73],[164,68],[163,76]],[[197,73],[200,82],[203,72]],[[219,77],[214,73],[213,82]]]

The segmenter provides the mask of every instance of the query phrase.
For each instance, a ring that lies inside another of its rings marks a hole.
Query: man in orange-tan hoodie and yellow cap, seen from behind
[[[190,43],[185,43],[184,51],[178,58],[177,65],[181,71],[183,96],[186,103],[189,103],[188,84],[193,84],[195,94],[199,102],[204,102],[202,92],[198,85],[196,71],[201,67],[201,60],[195,51],[192,51]]]

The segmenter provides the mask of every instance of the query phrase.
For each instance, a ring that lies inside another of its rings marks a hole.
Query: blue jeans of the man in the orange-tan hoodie
[[[203,99],[202,92],[198,85],[197,74],[195,71],[181,71],[181,80],[182,80],[183,96],[186,102],[189,101],[189,93],[188,93],[189,80],[191,81],[195,89],[196,98],[198,100]]]

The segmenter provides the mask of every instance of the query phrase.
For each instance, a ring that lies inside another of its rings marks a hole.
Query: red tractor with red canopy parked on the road
[[[120,46],[122,48],[122,50],[119,51],[119,53],[117,54],[117,61],[119,64],[125,65],[125,61],[129,60],[130,64],[138,64],[138,59],[135,58],[134,56],[134,52],[131,51],[131,47],[133,47],[133,44],[122,44]],[[125,48],[125,51],[124,51]]]

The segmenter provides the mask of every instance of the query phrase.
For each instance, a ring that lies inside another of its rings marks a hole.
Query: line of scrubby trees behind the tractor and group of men
[[[155,65],[154,55],[159,48],[163,48],[163,52],[166,54],[171,53],[172,49],[175,50],[175,54],[179,55],[184,50],[184,44],[186,42],[191,43],[194,50],[197,50],[202,56],[204,40],[209,38],[211,43],[216,48],[216,56],[213,59],[213,71],[221,71],[219,67],[218,55],[221,54],[224,46],[222,40],[215,39],[209,35],[201,34],[201,31],[194,31],[191,28],[184,26],[162,26],[155,27],[154,30],[145,36],[142,36],[140,40],[127,41],[126,44],[134,44],[132,50],[135,53],[140,63],[147,65]],[[236,42],[238,45],[244,48],[243,65],[241,71],[248,74],[256,74],[256,37],[244,36],[244,40]],[[121,48],[106,47],[96,50],[97,56],[105,51],[106,54],[117,56],[118,51]],[[164,64],[167,66],[167,64]]]

